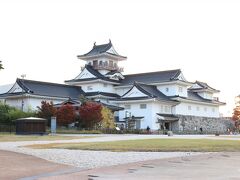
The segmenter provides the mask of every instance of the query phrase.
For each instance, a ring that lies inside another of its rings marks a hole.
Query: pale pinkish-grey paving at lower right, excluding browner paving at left
[[[199,156],[151,160],[111,168],[98,168],[39,180],[237,180],[240,153],[213,153]]]

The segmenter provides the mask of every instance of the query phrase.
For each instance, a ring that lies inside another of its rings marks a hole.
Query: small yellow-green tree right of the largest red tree
[[[101,110],[101,114],[102,114],[102,121],[101,121],[102,128],[107,128],[107,129],[115,128],[114,115],[112,111],[107,107],[103,106]]]

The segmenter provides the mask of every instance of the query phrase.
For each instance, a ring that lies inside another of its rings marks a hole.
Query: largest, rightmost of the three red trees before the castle
[[[86,102],[79,108],[80,119],[87,128],[96,128],[102,121],[102,105]]]

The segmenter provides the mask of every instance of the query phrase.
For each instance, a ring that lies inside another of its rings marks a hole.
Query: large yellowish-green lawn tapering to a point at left
[[[206,140],[206,139],[146,139],[99,143],[65,143],[34,145],[32,148],[61,148],[104,151],[187,151],[187,152],[220,152],[240,151],[240,141]]]

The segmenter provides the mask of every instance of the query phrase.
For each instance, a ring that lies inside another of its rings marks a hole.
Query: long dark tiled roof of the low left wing
[[[69,86],[64,84],[32,81],[17,79],[18,85],[24,89],[26,93],[41,96],[51,97],[70,97],[72,99],[78,99],[84,91],[78,86]]]

